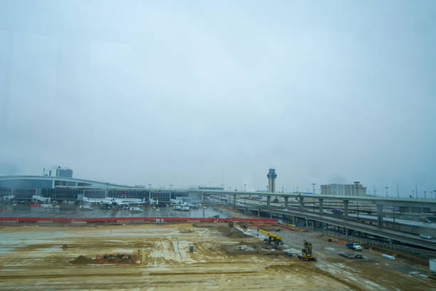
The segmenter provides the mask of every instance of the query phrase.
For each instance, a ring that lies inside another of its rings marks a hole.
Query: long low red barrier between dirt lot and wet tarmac
[[[0,221],[58,221],[58,222],[73,222],[73,221],[85,221],[87,223],[95,222],[109,222],[109,221],[122,221],[122,220],[164,220],[164,221],[217,221],[219,223],[225,223],[229,221],[233,222],[259,222],[259,223],[276,223],[276,219],[264,219],[264,218],[162,218],[162,217],[130,217],[130,218],[0,218]]]

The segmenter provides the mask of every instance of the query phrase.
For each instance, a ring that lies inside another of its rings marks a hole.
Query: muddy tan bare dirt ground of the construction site
[[[318,233],[281,230],[282,250],[266,249],[256,228],[224,223],[0,228],[0,290],[432,290],[410,262],[337,255],[343,244]],[[274,231],[275,227],[270,227]],[[313,243],[318,262],[292,254]],[[194,252],[189,252],[190,245]],[[135,263],[93,263],[107,254]],[[85,257],[78,260],[82,255]],[[78,260],[73,264],[71,260]]]

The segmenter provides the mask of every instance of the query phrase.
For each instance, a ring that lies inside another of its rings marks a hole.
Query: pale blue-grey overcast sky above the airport
[[[0,174],[422,196],[435,51],[432,0],[0,0]]]

